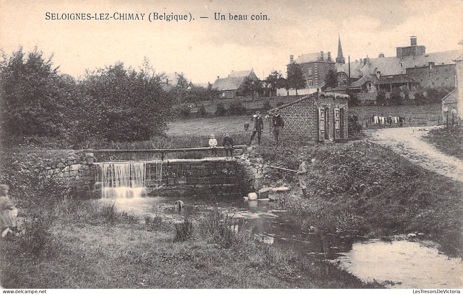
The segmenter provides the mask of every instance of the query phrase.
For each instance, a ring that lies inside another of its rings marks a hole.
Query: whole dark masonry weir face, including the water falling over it
[[[244,190],[242,173],[233,159],[129,160],[95,162],[94,166],[101,198],[237,196]]]

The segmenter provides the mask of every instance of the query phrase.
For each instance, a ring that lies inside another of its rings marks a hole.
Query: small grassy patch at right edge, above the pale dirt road
[[[463,160],[463,126],[455,125],[448,128],[432,129],[424,136],[424,139],[442,153]]]

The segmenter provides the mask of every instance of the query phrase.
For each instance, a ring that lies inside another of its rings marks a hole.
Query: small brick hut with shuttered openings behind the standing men
[[[278,107],[283,116],[284,140],[333,141],[347,139],[347,98],[339,93],[315,92]],[[273,109],[269,110],[273,115]],[[268,119],[273,136],[272,119]],[[284,144],[284,143],[283,143]]]

